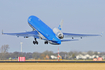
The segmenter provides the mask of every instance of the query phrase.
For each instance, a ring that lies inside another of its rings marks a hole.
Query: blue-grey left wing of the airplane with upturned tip
[[[4,35],[14,35],[14,36],[22,36],[24,38],[28,38],[28,37],[34,37],[34,38],[39,38],[39,34],[37,31],[30,31],[30,32],[22,32],[22,33],[3,33]]]

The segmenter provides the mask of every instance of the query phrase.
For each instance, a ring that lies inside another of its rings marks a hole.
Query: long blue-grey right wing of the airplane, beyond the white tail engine
[[[74,33],[63,33],[64,38],[74,38],[74,37],[90,37],[90,36],[101,36],[98,34],[74,34]]]

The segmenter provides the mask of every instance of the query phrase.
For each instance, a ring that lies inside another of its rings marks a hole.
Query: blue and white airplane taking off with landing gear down
[[[38,45],[37,39],[44,40],[44,44],[52,44],[52,45],[60,45],[61,42],[67,42],[67,41],[78,41],[78,39],[74,39],[74,37],[80,37],[81,39],[83,37],[88,36],[101,36],[99,34],[74,34],[74,33],[63,33],[62,25],[63,21],[61,21],[58,28],[51,29],[48,25],[46,25],[41,19],[38,17],[31,15],[28,18],[28,24],[33,29],[32,31],[28,32],[22,32],[22,33],[4,33],[2,31],[2,34],[4,35],[14,35],[17,37],[34,37],[33,44]],[[64,39],[64,38],[71,38],[71,39]]]

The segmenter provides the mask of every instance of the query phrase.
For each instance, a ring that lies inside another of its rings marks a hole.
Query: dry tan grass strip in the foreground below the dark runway
[[[0,70],[105,70],[105,63],[0,63]]]

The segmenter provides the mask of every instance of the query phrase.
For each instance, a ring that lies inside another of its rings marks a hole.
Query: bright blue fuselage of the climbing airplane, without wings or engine
[[[42,22],[38,17],[30,16],[28,18],[28,23],[33,29],[42,34],[50,43],[61,44],[61,40],[57,38],[53,30],[44,22]]]

